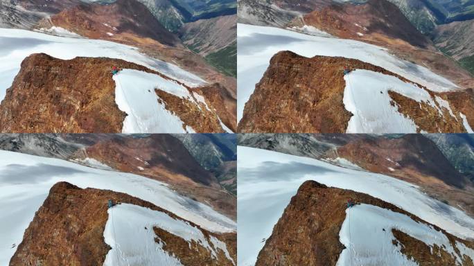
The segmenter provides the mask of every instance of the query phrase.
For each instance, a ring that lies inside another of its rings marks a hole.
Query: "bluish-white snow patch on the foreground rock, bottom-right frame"
[[[346,248],[342,250],[336,265],[351,265],[351,261],[356,261],[358,265],[418,265],[401,252],[400,244],[393,244],[392,241],[397,240],[392,229],[402,231],[430,248],[434,245],[443,247],[458,263],[462,263],[450,240],[441,231],[402,213],[359,204],[346,209],[346,219],[339,233],[340,242]]]

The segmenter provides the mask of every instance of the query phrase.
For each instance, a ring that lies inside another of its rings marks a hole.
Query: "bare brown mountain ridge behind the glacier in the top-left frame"
[[[229,19],[231,21],[231,16]],[[224,19],[224,23],[228,24],[229,19]],[[135,46],[151,57],[173,62],[204,80],[222,85],[227,94],[234,98],[231,102],[225,102],[227,108],[232,110],[236,105],[236,78],[223,75],[211,67],[204,57],[185,48],[176,35],[169,33],[150,11],[137,1],[121,0],[109,5],[75,6],[51,18],[43,19],[35,28],[51,26],[60,26],[92,39],[107,39]]]

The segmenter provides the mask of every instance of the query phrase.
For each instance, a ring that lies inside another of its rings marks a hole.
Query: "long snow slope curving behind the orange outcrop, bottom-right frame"
[[[238,263],[254,265],[274,224],[304,181],[355,190],[392,203],[461,238],[474,238],[474,220],[425,195],[413,184],[324,161],[238,146]],[[258,204],[257,204],[258,203]]]

